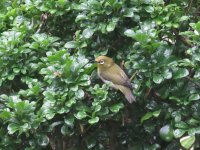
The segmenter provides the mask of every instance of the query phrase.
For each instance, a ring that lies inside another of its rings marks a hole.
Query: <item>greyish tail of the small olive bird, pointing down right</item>
[[[133,96],[132,91],[125,86],[122,85],[116,85],[118,89],[125,95],[126,99],[128,100],[129,103],[135,102],[135,97]]]

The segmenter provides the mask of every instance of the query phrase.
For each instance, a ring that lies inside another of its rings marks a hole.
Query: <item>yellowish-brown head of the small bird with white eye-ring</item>
[[[95,58],[95,62],[98,63],[98,67],[101,69],[107,69],[114,64],[113,59],[107,56],[99,56]]]

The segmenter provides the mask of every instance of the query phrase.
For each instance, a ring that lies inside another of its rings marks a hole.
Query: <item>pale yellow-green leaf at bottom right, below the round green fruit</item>
[[[195,142],[195,136],[185,136],[180,139],[181,146],[190,149]]]

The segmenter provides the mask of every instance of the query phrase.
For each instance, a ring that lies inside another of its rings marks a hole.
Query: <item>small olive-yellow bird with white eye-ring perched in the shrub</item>
[[[99,56],[97,62],[97,73],[99,78],[111,87],[120,90],[129,101],[133,103],[135,97],[132,93],[132,85],[125,72],[107,56]]]

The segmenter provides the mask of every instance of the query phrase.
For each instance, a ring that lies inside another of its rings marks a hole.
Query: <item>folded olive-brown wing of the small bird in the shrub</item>
[[[109,71],[101,72],[100,76],[104,80],[111,81],[114,84],[123,85],[132,89],[129,78],[125,72],[116,64],[109,68]]]

